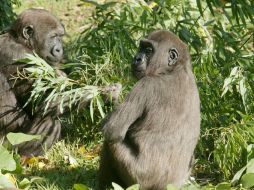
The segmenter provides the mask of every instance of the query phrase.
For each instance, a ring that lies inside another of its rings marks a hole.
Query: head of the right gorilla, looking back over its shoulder
[[[186,66],[190,60],[187,46],[168,31],[156,31],[140,41],[132,69],[140,79],[144,76],[163,75]],[[178,63],[178,64],[176,64]]]

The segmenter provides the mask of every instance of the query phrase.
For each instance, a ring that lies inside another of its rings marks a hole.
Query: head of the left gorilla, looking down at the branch
[[[64,27],[46,10],[22,12],[11,28],[11,34],[18,43],[34,50],[49,63],[58,63],[63,57]]]

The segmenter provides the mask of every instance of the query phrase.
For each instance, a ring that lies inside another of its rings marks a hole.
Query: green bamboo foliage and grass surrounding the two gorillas
[[[252,0],[34,0],[22,1],[19,7],[17,1],[12,3],[16,12],[34,6],[49,9],[66,25],[68,78],[64,80],[73,81],[79,94],[86,92],[87,85],[99,90],[100,86],[120,82],[124,98],[134,82],[130,63],[139,39],[155,29],[176,33],[189,45],[201,97],[202,132],[192,184],[203,189],[254,186]],[[10,5],[0,1],[0,30],[14,18]],[[2,11],[4,6],[8,8]],[[53,95],[74,96],[70,85],[56,88],[49,83],[44,84]],[[40,90],[35,88],[34,93],[41,94]],[[78,189],[81,185],[73,184],[82,183],[94,189],[102,140],[100,122],[112,109],[99,96],[95,98],[80,112],[72,106],[71,117],[62,118],[69,136],[64,135],[44,158],[26,160],[22,174],[14,175],[17,185],[21,187],[20,181],[25,178],[27,188]],[[74,103],[72,99],[70,105]]]

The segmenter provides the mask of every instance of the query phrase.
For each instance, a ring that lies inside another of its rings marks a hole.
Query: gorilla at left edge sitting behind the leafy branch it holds
[[[48,63],[56,66],[63,56],[61,38],[64,28],[48,11],[28,9],[21,13],[10,31],[0,36],[0,138],[10,131],[41,134],[42,139],[19,147],[24,155],[39,155],[50,148],[61,131],[57,112],[53,107],[42,115],[43,108],[32,114],[30,106],[23,108],[32,82],[9,80],[23,65],[15,60],[35,51]]]

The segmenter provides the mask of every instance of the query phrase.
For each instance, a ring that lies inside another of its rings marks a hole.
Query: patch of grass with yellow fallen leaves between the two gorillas
[[[99,146],[85,147],[79,141],[59,141],[45,156],[25,160],[24,175],[19,177],[34,181],[29,189],[66,190],[76,183],[94,189],[99,150]]]

